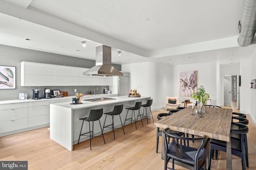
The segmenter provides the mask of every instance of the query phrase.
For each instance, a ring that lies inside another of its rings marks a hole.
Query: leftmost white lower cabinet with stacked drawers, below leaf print
[[[28,103],[5,104],[0,107],[0,133],[26,127],[28,127]]]

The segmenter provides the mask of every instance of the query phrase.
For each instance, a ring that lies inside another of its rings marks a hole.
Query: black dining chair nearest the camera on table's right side
[[[242,160],[242,170],[246,170],[246,151],[244,147],[244,135],[248,133],[248,126],[238,123],[238,122],[232,122],[231,123],[234,126],[237,126],[235,129],[231,129],[231,133],[238,133],[240,135],[239,141],[237,139],[231,138],[231,153],[235,156],[238,156]],[[211,168],[211,161],[214,157],[214,150],[216,150],[215,158],[217,159],[218,151],[221,150],[223,152],[226,152],[226,141],[219,141],[216,139],[210,139],[209,142],[209,160],[208,160],[208,170]]]

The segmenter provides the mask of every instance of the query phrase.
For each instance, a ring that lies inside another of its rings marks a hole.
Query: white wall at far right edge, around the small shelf
[[[250,57],[250,80],[256,79],[256,49],[252,53]],[[250,86],[248,86],[250,87]],[[252,121],[254,122],[254,125],[256,126],[256,90],[255,89],[249,89],[250,90],[250,115],[252,118]]]

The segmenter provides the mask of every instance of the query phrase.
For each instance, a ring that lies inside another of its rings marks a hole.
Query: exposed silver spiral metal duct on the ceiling
[[[241,31],[239,31],[238,44],[246,47],[252,43],[256,32],[256,0],[243,0],[239,27]]]

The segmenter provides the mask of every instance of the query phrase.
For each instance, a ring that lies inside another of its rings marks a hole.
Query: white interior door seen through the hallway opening
[[[224,76],[224,105],[231,106],[232,78]]]

